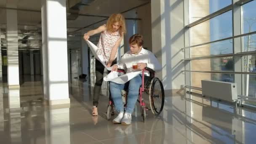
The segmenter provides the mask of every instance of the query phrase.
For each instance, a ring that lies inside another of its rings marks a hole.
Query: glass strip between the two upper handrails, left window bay
[[[213,56],[233,53],[233,40],[224,40],[191,48],[191,57]]]

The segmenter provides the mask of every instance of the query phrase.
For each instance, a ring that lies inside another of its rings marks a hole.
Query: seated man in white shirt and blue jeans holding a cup
[[[120,64],[115,64],[113,66],[112,71],[117,71],[118,68],[125,69],[126,73],[141,71],[146,67],[153,69],[154,71],[162,69],[155,55],[142,48],[143,38],[141,35],[135,34],[130,37],[129,45],[130,51],[123,55]],[[145,72],[144,75],[149,76],[149,72]],[[125,84],[118,84],[114,82],[109,83],[109,89],[112,100],[115,104],[115,110],[119,113],[113,120],[113,123],[122,123],[123,125],[131,124],[131,114],[133,113],[138,99],[139,88],[142,83],[141,77],[142,75],[138,75],[129,81],[127,104],[125,109],[121,95],[121,90],[124,89]]]

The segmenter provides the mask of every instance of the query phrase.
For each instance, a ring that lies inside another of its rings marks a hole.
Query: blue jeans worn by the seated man
[[[127,97],[127,107],[125,112],[132,114],[136,101],[139,96],[139,88],[141,86],[142,79],[141,75],[138,75],[129,81],[129,88],[128,88],[128,97]],[[125,84],[118,84],[114,82],[109,83],[109,89],[111,93],[111,97],[115,104],[115,110],[117,112],[124,111],[124,105],[122,101],[121,90],[124,89]]]

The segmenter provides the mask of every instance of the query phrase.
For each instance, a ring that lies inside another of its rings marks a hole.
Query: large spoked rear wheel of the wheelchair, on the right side
[[[159,115],[163,110],[165,92],[159,78],[154,77],[149,87],[149,104],[153,114]]]

